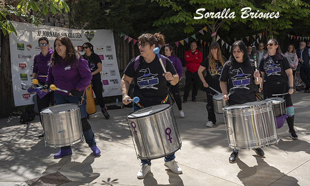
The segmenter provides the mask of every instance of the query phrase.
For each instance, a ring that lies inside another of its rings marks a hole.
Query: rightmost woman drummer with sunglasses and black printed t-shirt
[[[294,92],[294,76],[291,65],[282,54],[279,43],[275,39],[270,39],[267,43],[268,54],[263,57],[260,70],[263,76],[264,95],[263,98],[272,98],[275,94],[284,94],[286,104],[286,118],[289,126],[288,133],[292,139],[297,139],[294,130],[294,107],[291,94]]]

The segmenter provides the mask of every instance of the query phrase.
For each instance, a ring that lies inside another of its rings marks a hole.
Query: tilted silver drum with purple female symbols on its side
[[[127,115],[131,136],[140,159],[156,159],[181,148],[180,134],[171,105],[146,107]]]

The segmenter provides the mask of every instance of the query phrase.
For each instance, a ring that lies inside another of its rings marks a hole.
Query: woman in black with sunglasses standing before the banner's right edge
[[[83,58],[88,61],[89,69],[91,70],[93,75],[93,92],[95,93],[96,98],[99,102],[102,114],[105,116],[106,119],[109,119],[110,115],[106,110],[105,100],[102,96],[103,85],[100,75],[100,71],[102,71],[101,59],[97,54],[93,52],[93,44],[91,43],[84,43],[83,51],[85,52]]]

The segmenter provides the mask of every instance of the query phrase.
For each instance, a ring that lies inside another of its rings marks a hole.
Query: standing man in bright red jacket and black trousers
[[[198,69],[200,63],[202,62],[202,53],[197,50],[197,43],[190,43],[190,50],[186,51],[184,54],[184,59],[186,61],[186,72],[185,72],[185,87],[184,87],[184,96],[183,102],[187,102],[187,98],[189,95],[190,85],[193,83],[193,91],[192,91],[192,101],[196,102],[196,96],[198,94]]]

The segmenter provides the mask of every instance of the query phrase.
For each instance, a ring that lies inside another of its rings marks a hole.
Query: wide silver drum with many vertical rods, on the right
[[[279,142],[270,101],[253,101],[223,110],[231,148],[250,149]]]

